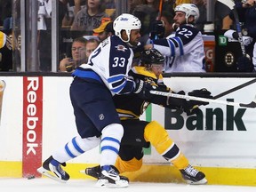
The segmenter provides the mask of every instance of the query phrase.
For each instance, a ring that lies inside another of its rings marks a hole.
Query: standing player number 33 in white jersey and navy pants
[[[60,181],[69,179],[61,165],[100,145],[100,176],[97,186],[128,186],[120,179],[114,164],[124,128],[116,112],[112,96],[134,92],[143,94],[150,84],[133,81],[128,76],[132,68],[132,47],[139,43],[140,20],[131,14],[121,14],[114,20],[115,36],[109,36],[92,52],[87,64],[73,72],[70,100],[76,117],[75,136],[46,159],[37,171]],[[153,89],[153,88],[152,88]],[[53,174],[52,174],[53,173]]]

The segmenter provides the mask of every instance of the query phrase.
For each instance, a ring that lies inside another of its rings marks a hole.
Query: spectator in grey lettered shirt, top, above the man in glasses
[[[92,36],[93,29],[99,28],[101,20],[108,18],[104,0],[88,0],[86,6],[77,12],[71,30],[84,31],[84,35]]]

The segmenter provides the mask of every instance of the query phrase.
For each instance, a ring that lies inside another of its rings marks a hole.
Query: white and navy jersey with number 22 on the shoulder
[[[164,73],[205,72],[204,40],[192,25],[182,25],[175,34],[152,41],[165,56]]]

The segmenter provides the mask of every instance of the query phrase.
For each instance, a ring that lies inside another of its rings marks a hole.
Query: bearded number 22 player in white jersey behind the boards
[[[175,33],[164,39],[152,40],[146,49],[156,48],[165,56],[164,72],[205,72],[204,40],[194,24],[199,18],[195,4],[175,7]]]

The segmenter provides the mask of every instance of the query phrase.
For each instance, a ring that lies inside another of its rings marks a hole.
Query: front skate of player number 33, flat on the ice
[[[113,165],[102,166],[99,173],[96,187],[127,188],[129,185],[129,180],[124,180],[124,177],[121,179],[118,170]]]

